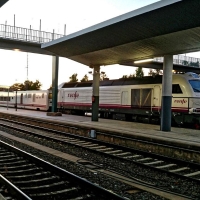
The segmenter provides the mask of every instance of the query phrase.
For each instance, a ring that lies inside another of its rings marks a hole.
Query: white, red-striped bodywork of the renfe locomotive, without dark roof
[[[153,78],[152,78],[153,79]],[[200,88],[196,92],[189,81],[198,82],[200,78],[194,78],[191,74],[173,75],[172,111],[176,112],[200,112]],[[60,88],[58,95],[59,107],[90,107],[92,104],[92,87]],[[162,84],[138,84],[100,86],[99,107],[105,109],[121,108],[148,108],[160,110],[162,98]]]

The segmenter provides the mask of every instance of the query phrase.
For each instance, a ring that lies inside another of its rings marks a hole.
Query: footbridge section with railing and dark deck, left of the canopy
[[[61,34],[0,24],[0,49],[54,55],[41,48],[42,43],[63,37]]]

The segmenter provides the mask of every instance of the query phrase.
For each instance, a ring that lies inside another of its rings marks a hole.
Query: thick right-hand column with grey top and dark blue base
[[[164,56],[161,104],[161,131],[171,131],[173,55]]]

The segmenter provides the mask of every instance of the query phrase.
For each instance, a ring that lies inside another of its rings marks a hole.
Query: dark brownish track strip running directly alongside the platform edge
[[[88,137],[88,132],[91,130],[91,127],[88,127],[87,124],[81,125],[79,123],[70,124],[68,121],[67,123],[60,122],[56,120],[52,122],[48,119],[40,119],[35,117],[24,117],[24,116],[16,116],[16,115],[9,115],[3,114],[1,117],[3,119],[13,120],[17,122],[22,122],[30,125],[50,128],[53,130],[58,130],[67,133],[74,133],[76,135],[82,135]],[[92,128],[93,129],[93,128]],[[155,154],[162,154],[167,157],[174,157],[177,159],[184,159],[188,161],[193,161],[200,163],[200,153],[199,153],[199,144],[196,142],[196,145],[190,146],[188,141],[188,145],[185,145],[185,139],[181,140],[179,138],[179,143],[177,144],[173,141],[172,138],[168,138],[168,140],[160,140],[156,139],[156,137],[145,137],[137,136],[128,134],[129,136],[124,136],[123,132],[112,132],[112,131],[102,131],[101,128],[95,128],[96,130],[96,138],[98,140],[107,141],[110,143],[115,143],[122,146],[127,146],[134,149],[140,149],[144,151],[151,151]],[[123,131],[123,130],[122,130]],[[165,136],[167,138],[167,136]],[[193,141],[194,143],[195,141]],[[183,148],[181,148],[183,147]],[[183,158],[184,157],[184,158]]]

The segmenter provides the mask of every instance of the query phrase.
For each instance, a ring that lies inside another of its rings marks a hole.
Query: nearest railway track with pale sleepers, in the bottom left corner
[[[0,178],[10,180],[15,187],[13,199],[124,199],[2,141],[0,170]],[[13,191],[2,179],[7,193]]]

